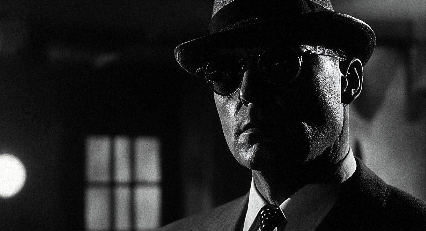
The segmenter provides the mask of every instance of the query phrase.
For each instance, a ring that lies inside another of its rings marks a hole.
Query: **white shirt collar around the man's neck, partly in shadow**
[[[288,222],[285,231],[315,230],[339,198],[340,184],[348,180],[356,168],[354,154],[349,148],[348,154],[338,163],[336,171],[333,172],[339,179],[338,182],[317,179],[314,183],[300,188],[282,202],[279,208]],[[252,178],[243,231],[249,230],[260,209],[267,204],[268,202],[259,193]]]

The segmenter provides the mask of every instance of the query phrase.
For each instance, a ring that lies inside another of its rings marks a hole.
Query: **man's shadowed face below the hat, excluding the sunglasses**
[[[214,56],[242,58],[266,48],[227,49]],[[227,144],[241,165],[252,170],[296,166],[336,143],[344,117],[338,60],[315,54],[302,58],[299,76],[277,86],[262,78],[256,57],[249,57],[239,91],[214,95]]]

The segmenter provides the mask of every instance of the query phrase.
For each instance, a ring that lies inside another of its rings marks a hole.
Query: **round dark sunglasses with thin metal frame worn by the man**
[[[303,48],[303,47],[302,47]],[[305,49],[305,48],[303,48]],[[204,75],[207,84],[216,94],[231,95],[238,91],[245,72],[245,60],[248,57],[257,57],[257,65],[262,77],[276,85],[288,84],[299,75],[302,69],[302,55],[318,54],[343,58],[320,51],[296,51],[292,47],[268,48],[260,55],[248,55],[237,59],[229,55],[219,55],[210,59],[196,73]]]

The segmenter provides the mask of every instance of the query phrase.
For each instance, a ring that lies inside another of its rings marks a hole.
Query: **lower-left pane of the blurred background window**
[[[86,230],[109,229],[109,197],[107,188],[86,190]]]

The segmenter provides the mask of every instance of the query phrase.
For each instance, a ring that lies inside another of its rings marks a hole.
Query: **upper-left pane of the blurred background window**
[[[107,136],[86,138],[86,177],[89,181],[109,181],[110,139]]]

